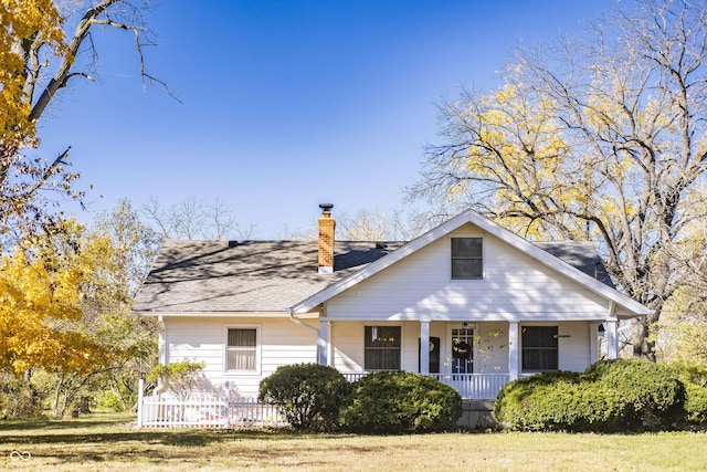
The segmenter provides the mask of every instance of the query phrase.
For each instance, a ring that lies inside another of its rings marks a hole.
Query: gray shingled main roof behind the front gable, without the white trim
[[[402,244],[337,241],[334,274],[319,274],[316,241],[170,240],[133,312],[284,312]],[[593,244],[536,244],[613,287]]]

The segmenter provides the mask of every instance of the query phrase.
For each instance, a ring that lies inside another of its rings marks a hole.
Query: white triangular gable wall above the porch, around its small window
[[[466,224],[450,237],[484,238],[484,279],[451,280],[442,238],[327,302],[329,319],[603,319],[608,303],[523,252]]]

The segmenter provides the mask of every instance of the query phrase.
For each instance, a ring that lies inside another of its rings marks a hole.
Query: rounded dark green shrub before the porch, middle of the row
[[[429,376],[382,371],[354,384],[341,420],[352,430],[401,432],[451,428],[461,415],[454,388]]]

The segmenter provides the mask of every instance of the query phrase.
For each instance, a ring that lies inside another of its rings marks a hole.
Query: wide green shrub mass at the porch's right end
[[[496,420],[518,430],[616,431],[672,428],[684,413],[685,387],[665,365],[604,360],[583,374],[545,373],[506,385]]]

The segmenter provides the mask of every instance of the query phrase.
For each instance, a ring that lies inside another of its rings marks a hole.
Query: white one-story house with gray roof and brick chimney
[[[471,210],[407,243],[335,241],[321,208],[318,241],[168,241],[133,305],[159,317],[160,361],[204,361],[213,388],[242,395],[316,361],[493,399],[523,375],[583,370],[601,332],[616,357],[619,321],[651,313],[591,243],[531,243]]]

